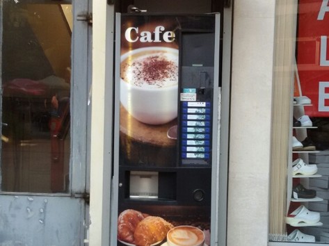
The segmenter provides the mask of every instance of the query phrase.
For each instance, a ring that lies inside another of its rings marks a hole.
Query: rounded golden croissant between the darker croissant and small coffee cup
[[[157,216],[148,216],[137,224],[134,238],[136,246],[150,246],[161,242],[173,225]]]

